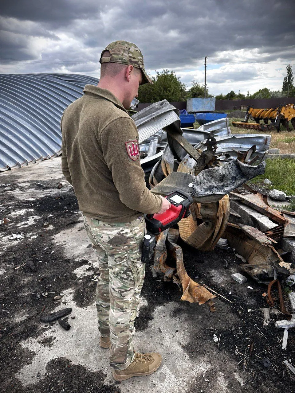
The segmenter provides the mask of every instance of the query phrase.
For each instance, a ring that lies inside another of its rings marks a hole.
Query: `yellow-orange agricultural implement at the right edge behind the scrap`
[[[248,120],[253,119],[256,123],[248,123]],[[260,123],[263,120],[264,123]],[[269,123],[270,121],[270,123]],[[280,131],[280,125],[284,125],[288,131],[291,131],[289,127],[289,121],[291,121],[293,128],[295,129],[295,105],[280,105],[278,108],[270,109],[259,109],[249,106],[245,120],[233,121],[232,125],[235,127],[255,129],[260,131]]]

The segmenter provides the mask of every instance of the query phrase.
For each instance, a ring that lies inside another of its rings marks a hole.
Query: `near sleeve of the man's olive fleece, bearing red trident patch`
[[[109,123],[100,133],[103,156],[112,173],[120,200],[130,209],[153,214],[162,208],[162,198],[146,187],[144,171],[140,166],[139,146],[132,160],[128,154],[128,143],[138,145],[138,131],[131,118],[118,118]],[[136,151],[136,149],[135,149]],[[130,151],[129,151],[130,152]]]

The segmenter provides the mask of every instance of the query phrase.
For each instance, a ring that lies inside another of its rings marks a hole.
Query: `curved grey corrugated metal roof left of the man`
[[[98,79],[76,74],[0,74],[0,171],[61,150],[65,108]]]

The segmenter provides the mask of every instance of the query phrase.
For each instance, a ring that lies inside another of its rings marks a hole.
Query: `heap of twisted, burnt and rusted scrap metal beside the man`
[[[164,280],[173,280],[182,287],[182,300],[207,302],[214,311],[214,294],[186,273],[178,237],[203,251],[213,250],[221,236],[224,237],[245,259],[244,271],[258,282],[269,283],[295,273],[291,263],[284,262],[274,247],[282,236],[295,236],[295,216],[269,207],[264,195],[245,185],[264,173],[263,158],[269,148],[270,135],[230,134],[227,118],[212,121],[197,130],[182,130],[177,112],[164,100],[133,116],[141,146],[149,143],[150,149],[152,145],[152,157],[157,160],[149,175],[151,191],[164,196],[179,189],[194,200],[191,215],[178,223],[178,229],[170,228],[159,235],[153,268]],[[153,135],[157,143],[151,139]],[[242,185],[249,195],[238,192]],[[263,233],[252,226],[230,223],[230,197],[262,211],[277,226]]]

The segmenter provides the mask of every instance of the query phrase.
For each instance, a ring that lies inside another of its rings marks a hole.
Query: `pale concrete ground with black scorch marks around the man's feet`
[[[263,326],[266,287],[249,277],[243,285],[232,281],[241,263],[232,250],[198,252],[181,241],[188,274],[227,300],[214,299],[215,313],[182,302],[179,288],[146,266],[134,343],[138,352],[159,351],[163,362],[151,376],[116,384],[108,350],[98,345],[96,257],[60,165],[54,158],[0,174],[1,217],[11,220],[0,225],[1,391],[294,392],[282,364],[295,364],[294,336],[290,329],[282,351],[283,332]],[[69,331],[39,319],[66,307]],[[253,356],[242,371],[251,342]],[[265,357],[270,368],[258,362]]]

